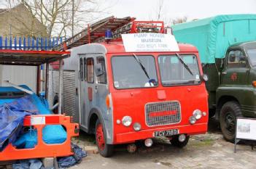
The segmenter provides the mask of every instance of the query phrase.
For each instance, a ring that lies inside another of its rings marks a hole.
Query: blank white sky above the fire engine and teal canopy
[[[159,0],[106,0],[115,17],[136,17],[137,20],[155,20]],[[188,17],[188,20],[221,14],[256,14],[256,0],[163,0],[162,20]]]

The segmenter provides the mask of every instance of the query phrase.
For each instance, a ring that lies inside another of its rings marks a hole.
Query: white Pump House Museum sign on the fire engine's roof
[[[126,52],[179,51],[176,39],[171,34],[130,33],[122,34]]]

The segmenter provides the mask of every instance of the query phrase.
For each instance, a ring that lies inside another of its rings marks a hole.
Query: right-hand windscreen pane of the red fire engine
[[[182,62],[179,61],[182,58]],[[163,86],[200,83],[198,61],[195,55],[161,55],[158,57]]]

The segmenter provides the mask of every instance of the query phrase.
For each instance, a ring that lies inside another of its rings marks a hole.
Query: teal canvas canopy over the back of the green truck
[[[218,15],[172,26],[178,42],[198,48],[201,62],[225,57],[228,46],[256,41],[256,15]]]

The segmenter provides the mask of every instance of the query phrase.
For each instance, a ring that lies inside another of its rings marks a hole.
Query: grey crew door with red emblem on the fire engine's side
[[[90,54],[79,55],[80,125],[88,129],[88,115],[94,101],[94,59]]]

